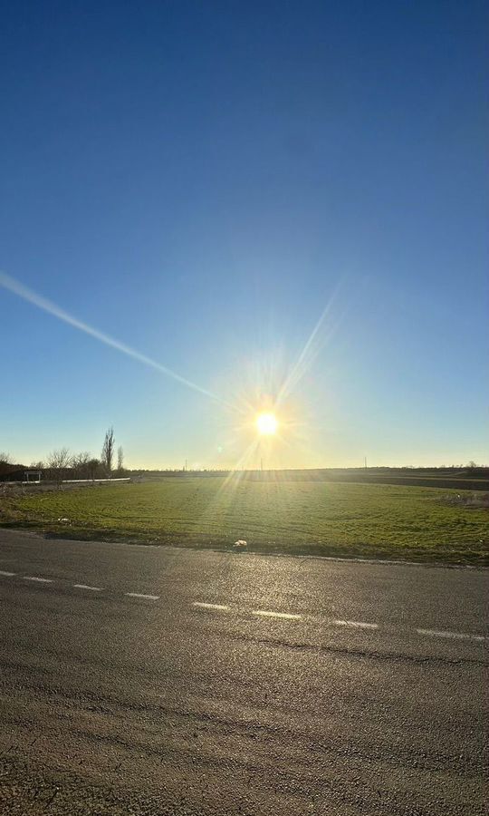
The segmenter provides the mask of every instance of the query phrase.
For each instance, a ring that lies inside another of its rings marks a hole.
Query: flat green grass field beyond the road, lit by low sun
[[[82,539],[365,558],[489,562],[488,511],[457,491],[187,477],[0,500],[0,524]],[[68,519],[62,522],[60,519]]]

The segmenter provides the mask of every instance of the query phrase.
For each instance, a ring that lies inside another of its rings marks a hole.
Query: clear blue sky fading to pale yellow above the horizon
[[[0,450],[488,461],[488,8],[5,6]]]

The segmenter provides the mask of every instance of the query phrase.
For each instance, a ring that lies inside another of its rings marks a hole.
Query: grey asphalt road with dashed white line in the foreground
[[[0,812],[484,813],[486,577],[0,530]]]

